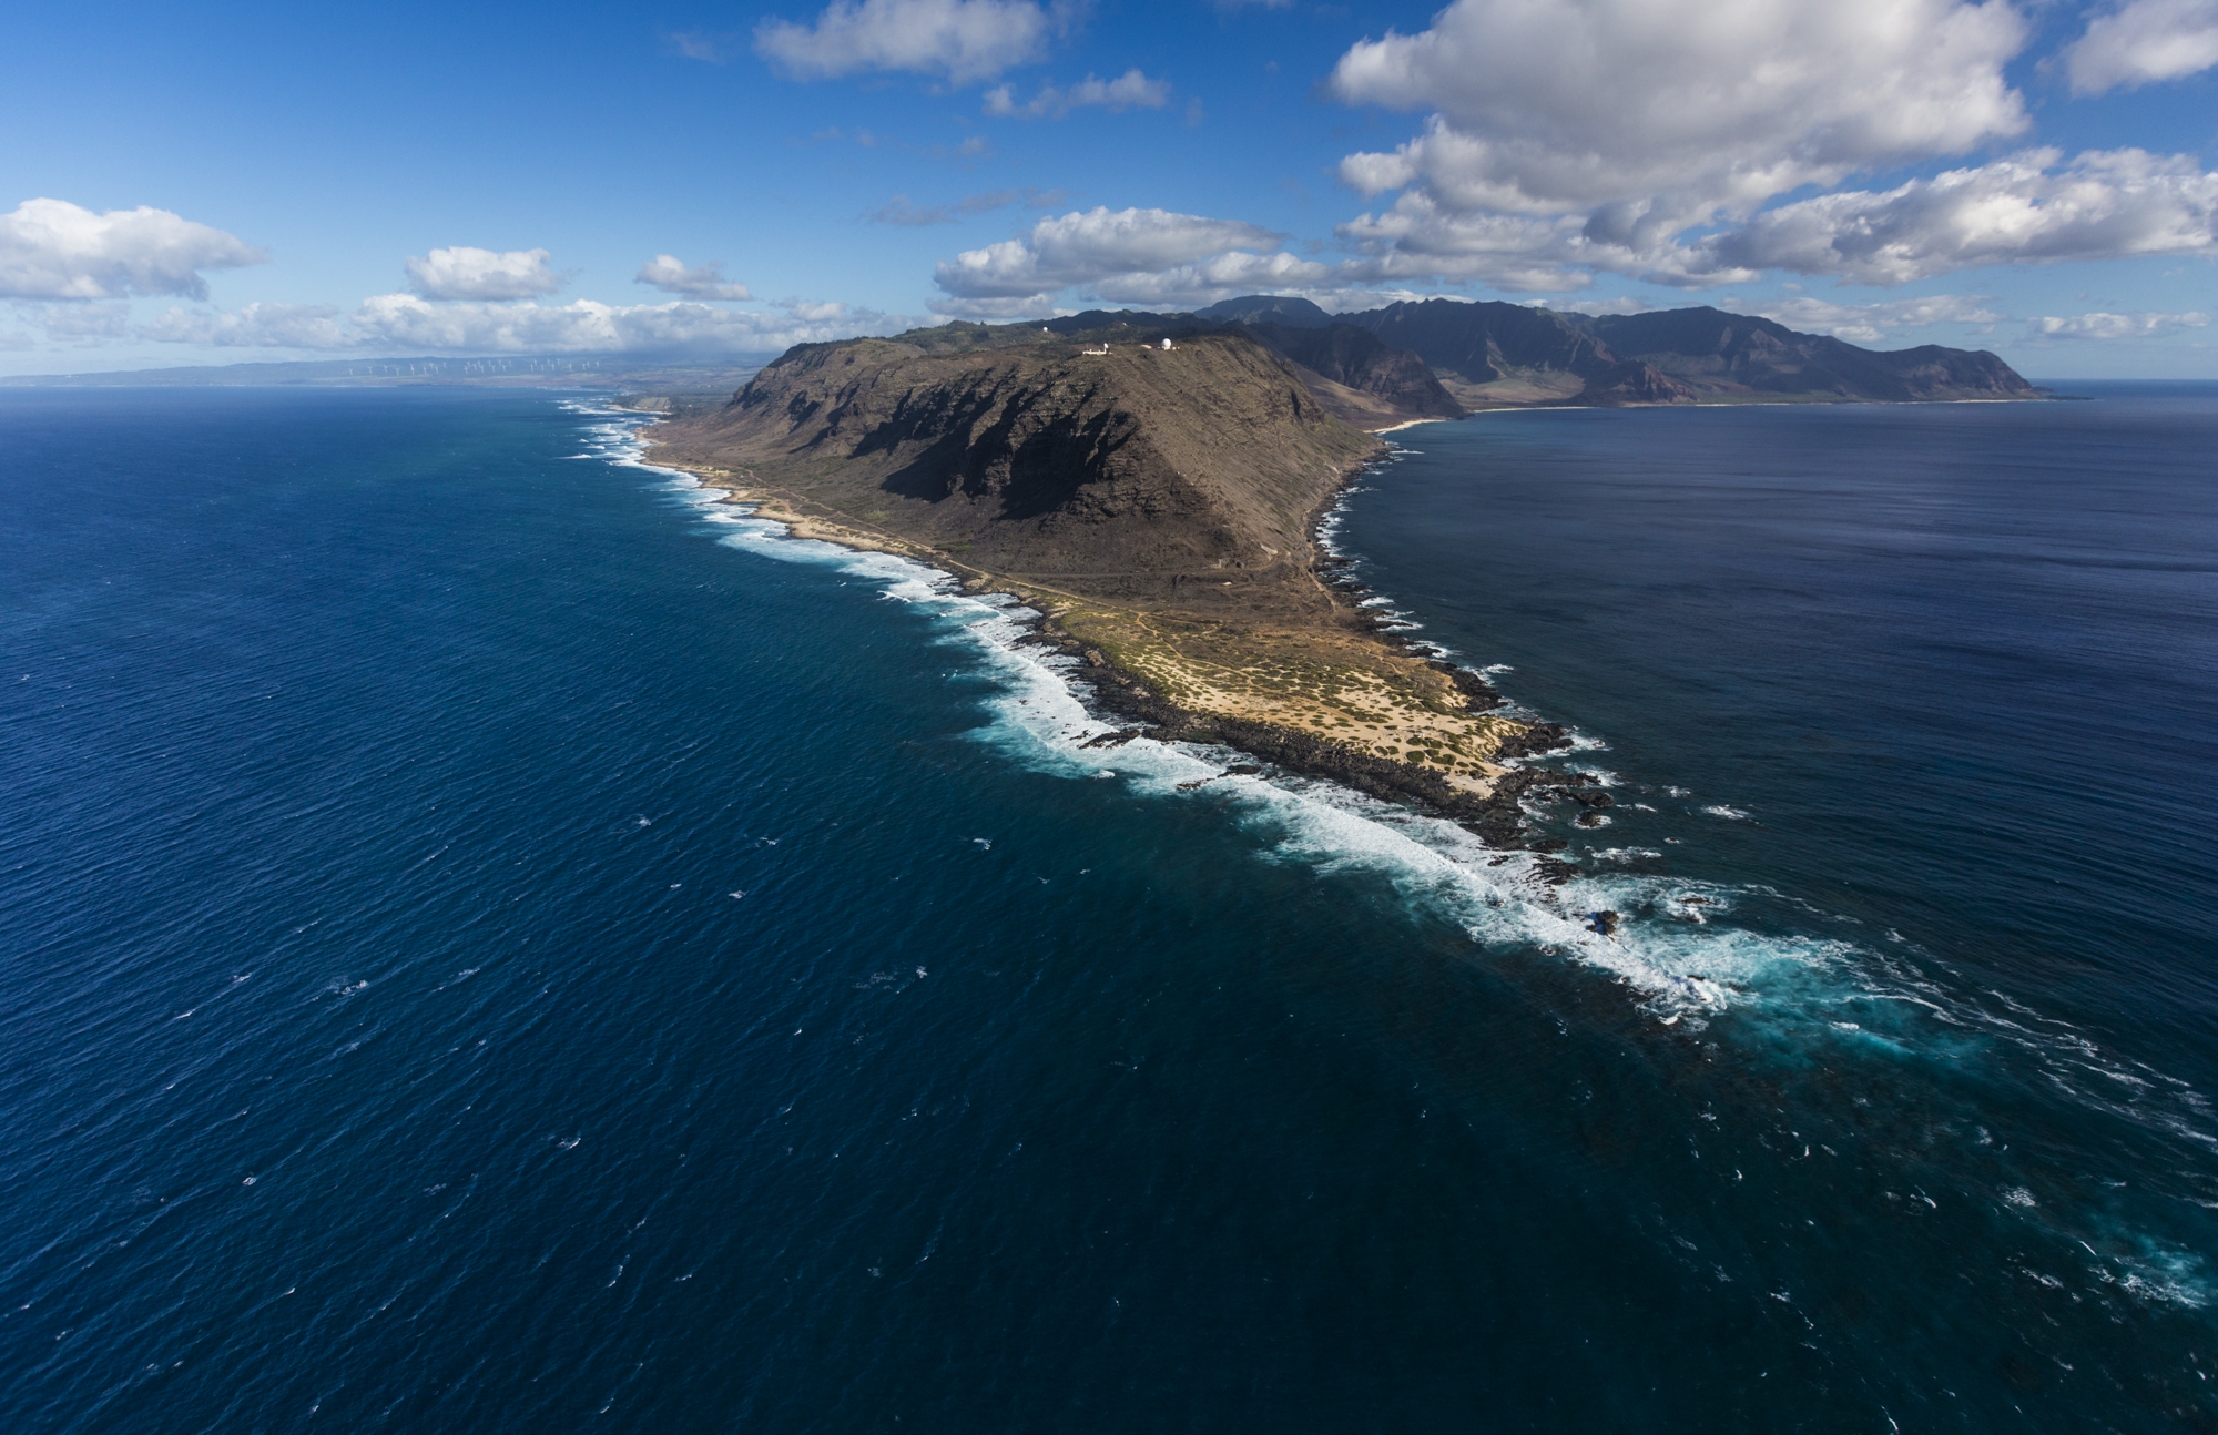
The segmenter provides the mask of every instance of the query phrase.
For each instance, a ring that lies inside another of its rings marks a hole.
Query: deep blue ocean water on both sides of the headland
[[[0,1422],[2211,1428],[2218,390],[2087,393],[1402,435],[1564,887],[588,404],[0,393]]]

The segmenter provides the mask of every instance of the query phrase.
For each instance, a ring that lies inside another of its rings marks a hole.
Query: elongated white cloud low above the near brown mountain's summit
[[[1022,240],[943,259],[934,282],[954,299],[1045,302],[1060,288],[1102,286],[1107,293],[1118,288],[1120,277],[1138,282],[1138,275],[1220,259],[1229,251],[1275,251],[1280,240],[1282,235],[1242,220],[1096,206],[1040,220]]]

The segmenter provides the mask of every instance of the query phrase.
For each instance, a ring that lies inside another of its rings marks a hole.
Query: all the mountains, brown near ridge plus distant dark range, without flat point
[[[1717,308],[1428,299],[1324,326],[1089,311],[805,344],[661,437],[683,464],[978,568],[1240,605],[1320,592],[1309,523],[1377,452],[1360,428],[1510,404],[2025,397],[1990,353],[1872,353]]]

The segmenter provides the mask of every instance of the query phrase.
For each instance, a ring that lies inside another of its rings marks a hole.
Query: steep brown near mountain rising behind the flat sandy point
[[[676,461],[1071,592],[1322,601],[1311,519],[1380,446],[1249,335],[1107,353],[1031,326],[905,339],[794,348],[657,437]]]

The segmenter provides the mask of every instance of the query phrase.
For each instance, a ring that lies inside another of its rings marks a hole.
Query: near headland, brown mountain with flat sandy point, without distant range
[[[1169,736],[1502,825],[1502,759],[1553,734],[1326,579],[1317,519],[1386,446],[1315,388],[1238,333],[947,326],[794,350],[648,437],[798,537],[1020,597],[1111,710]]]

